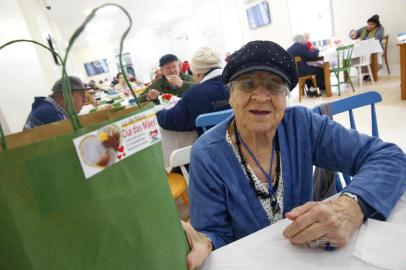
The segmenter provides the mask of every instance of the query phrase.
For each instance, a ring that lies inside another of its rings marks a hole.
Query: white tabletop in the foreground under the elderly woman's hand
[[[388,222],[406,225],[406,194],[396,205]],[[263,269],[383,269],[352,255],[359,231],[341,249],[327,252],[320,249],[293,246],[282,236],[282,231],[290,221],[284,219],[256,233],[215,250],[206,260],[202,270],[263,270]],[[383,234],[385,231],[382,232]],[[404,243],[399,247],[404,249]],[[383,250],[383,254],[390,250]],[[405,253],[406,254],[406,253]],[[383,255],[385,256],[385,255]],[[406,260],[406,259],[405,259]],[[405,268],[406,269],[406,268]]]

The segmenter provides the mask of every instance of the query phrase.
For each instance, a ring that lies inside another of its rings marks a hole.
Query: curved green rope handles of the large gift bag
[[[58,59],[61,61],[62,63],[62,94],[63,94],[63,98],[64,98],[64,102],[65,102],[65,108],[67,110],[67,113],[69,115],[69,119],[71,121],[72,127],[74,130],[78,130],[81,128],[80,122],[79,122],[79,117],[78,114],[76,113],[75,109],[74,109],[74,105],[73,105],[73,100],[72,100],[72,91],[71,91],[71,87],[69,84],[69,80],[68,80],[68,75],[66,73],[66,61],[68,58],[68,54],[73,46],[73,43],[75,42],[75,40],[79,37],[79,35],[85,30],[86,25],[96,16],[96,13],[99,9],[105,8],[107,6],[115,6],[117,8],[119,8],[120,10],[122,10],[124,12],[124,14],[127,16],[128,21],[129,21],[129,26],[127,27],[127,29],[125,30],[124,34],[121,37],[120,40],[120,52],[119,52],[119,64],[120,64],[120,69],[121,72],[124,76],[124,80],[128,86],[128,88],[130,89],[130,92],[132,94],[132,96],[134,97],[138,107],[141,107],[140,102],[137,98],[137,96],[135,95],[135,92],[131,86],[130,81],[127,78],[126,72],[124,71],[124,66],[123,66],[123,60],[122,60],[122,53],[123,53],[123,47],[124,47],[124,40],[126,39],[128,33],[131,30],[132,27],[132,19],[130,14],[127,12],[126,9],[124,9],[122,6],[117,5],[117,4],[113,4],[113,3],[106,3],[104,5],[101,5],[95,9],[93,9],[90,14],[86,17],[85,21],[79,26],[78,29],[76,29],[76,31],[73,33],[72,37],[69,40],[68,43],[68,48],[66,49],[66,53],[65,53],[65,57],[64,59],[62,59],[60,57],[59,54],[57,54],[54,50],[52,50],[51,48],[37,42],[37,41],[33,41],[33,40],[26,40],[26,39],[19,39],[19,40],[13,40],[10,42],[5,43],[4,45],[2,45],[0,47],[0,50],[3,49],[4,47],[17,43],[17,42],[31,42],[34,43],[36,45],[39,45],[47,50],[49,50],[51,53],[53,53],[56,57],[58,57]],[[8,149],[8,145],[7,145],[7,140],[6,137],[4,136],[4,132],[3,132],[3,128],[1,127],[0,124],[0,142],[1,142],[1,147],[3,150],[7,150]]]

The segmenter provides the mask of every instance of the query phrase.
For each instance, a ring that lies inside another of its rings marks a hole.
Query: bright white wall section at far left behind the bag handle
[[[31,39],[17,0],[1,0],[0,44],[13,39]],[[0,51],[0,108],[11,132],[21,131],[31,111],[34,96],[51,88],[34,45],[14,44]]]

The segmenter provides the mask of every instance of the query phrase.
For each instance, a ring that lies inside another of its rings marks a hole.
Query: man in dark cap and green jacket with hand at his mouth
[[[152,82],[150,86],[138,97],[140,102],[154,101],[163,93],[180,96],[194,83],[193,78],[179,72],[178,58],[173,54],[166,54],[159,59],[163,76]]]

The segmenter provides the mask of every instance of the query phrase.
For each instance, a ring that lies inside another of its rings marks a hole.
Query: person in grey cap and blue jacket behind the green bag
[[[76,112],[79,113],[84,104],[85,91],[90,88],[86,88],[78,77],[69,76],[68,78],[72,90],[73,104]],[[65,110],[62,95],[62,79],[60,79],[52,87],[52,94],[50,96],[35,97],[32,110],[24,125],[24,130],[65,119],[68,119],[68,114]]]

